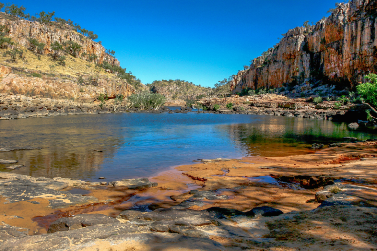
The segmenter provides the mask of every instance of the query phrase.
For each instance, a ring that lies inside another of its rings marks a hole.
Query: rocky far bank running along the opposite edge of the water
[[[125,101],[126,102],[126,101]],[[350,104],[336,107],[335,102],[323,102],[315,105],[310,99],[288,99],[282,95],[266,94],[258,96],[239,97],[233,95],[228,98],[202,98],[200,102],[209,108],[199,113],[219,114],[249,114],[286,116],[298,118],[314,118],[323,120],[339,120],[347,122],[358,122],[360,125],[376,126],[375,122],[366,121],[365,110],[369,109],[362,104]],[[232,103],[230,109],[226,108]],[[214,110],[214,105],[220,106]],[[42,98],[40,96],[7,95],[0,94],[0,120],[18,119],[29,117],[65,116],[78,114],[101,114],[114,112],[113,101],[109,100],[105,105],[100,101],[88,98],[87,100],[73,101],[68,99],[55,100]],[[180,110],[171,111],[167,107],[159,110],[141,110],[137,108],[126,108],[126,103],[120,106],[117,113],[187,113],[192,109],[181,107]]]

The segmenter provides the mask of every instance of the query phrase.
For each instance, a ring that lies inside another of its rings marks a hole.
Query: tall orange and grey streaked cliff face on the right
[[[235,75],[231,90],[313,79],[352,87],[371,72],[377,72],[377,0],[352,0],[315,26],[289,30],[268,55]]]

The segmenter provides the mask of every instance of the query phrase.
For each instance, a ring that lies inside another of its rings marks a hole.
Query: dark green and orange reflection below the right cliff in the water
[[[304,118],[260,116],[255,123],[224,125],[222,129],[250,156],[306,154],[314,152],[310,149],[313,143],[335,143],[346,136],[360,138],[360,132],[351,131],[345,123]]]

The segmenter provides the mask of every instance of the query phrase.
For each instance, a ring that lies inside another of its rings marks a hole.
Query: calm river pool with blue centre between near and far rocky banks
[[[225,114],[96,114],[0,121],[0,145],[42,150],[0,153],[30,176],[106,181],[153,177],[195,159],[288,156],[314,152],[313,143],[373,134],[345,123]],[[103,152],[94,151],[102,150]],[[10,172],[0,165],[0,171]]]

